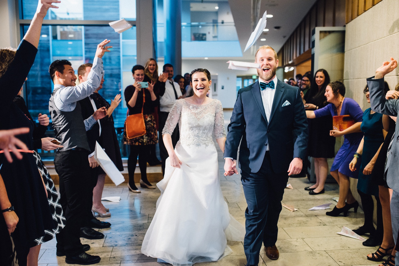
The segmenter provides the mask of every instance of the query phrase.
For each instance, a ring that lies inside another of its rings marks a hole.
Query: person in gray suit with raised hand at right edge
[[[391,92],[391,96],[385,99],[384,76],[392,72],[398,63],[391,57],[391,61],[385,61],[381,67],[375,71],[375,76],[367,79],[367,85],[370,91],[371,109],[380,114],[397,116],[399,113],[399,93]],[[399,231],[399,124],[396,121],[395,135],[391,142],[391,150],[388,154],[387,166],[385,167],[385,176],[387,184],[393,190],[391,198],[391,223],[392,234],[398,250],[398,231]],[[395,265],[399,266],[399,251],[396,251],[394,257]],[[392,263],[392,262],[391,262]],[[385,264],[384,264],[385,265]],[[388,265],[388,264],[386,264]],[[391,264],[389,264],[391,265]]]

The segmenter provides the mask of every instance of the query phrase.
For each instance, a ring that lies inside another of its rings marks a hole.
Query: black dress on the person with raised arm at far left
[[[17,136],[30,150],[33,150],[33,121],[13,102],[32,67],[37,49],[28,41],[22,40],[14,61],[0,78],[0,130],[28,127],[30,132]],[[32,153],[24,153],[22,160],[14,157],[10,164],[0,154],[2,167],[0,174],[6,186],[8,198],[18,215],[18,225],[12,233],[20,263],[26,263],[29,245],[44,235],[44,230],[55,228],[47,202],[43,183]],[[1,215],[1,218],[3,216]],[[2,230],[2,229],[0,229]],[[26,250],[28,248],[28,250]],[[21,252],[20,252],[21,250]],[[26,254],[25,254],[26,253]]]

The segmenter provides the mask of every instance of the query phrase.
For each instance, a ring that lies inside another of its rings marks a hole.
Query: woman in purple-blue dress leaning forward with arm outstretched
[[[363,110],[361,110],[359,104],[350,98],[345,98],[345,86],[340,81],[334,81],[326,87],[326,98],[330,102],[327,106],[314,110],[306,111],[308,118],[317,118],[322,116],[341,116],[349,114],[354,120],[355,124],[348,127],[345,130],[331,130],[330,136],[340,137],[344,136],[344,144],[342,144],[340,150],[334,158],[334,162],[331,166],[330,173],[340,185],[340,198],[336,207],[332,211],[326,212],[329,216],[338,216],[340,213],[347,215],[348,210],[354,208],[356,212],[359,207],[359,203],[353,197],[350,191],[349,177],[357,178],[358,170],[352,172],[349,169],[349,163],[352,161],[353,155],[358,148],[363,133],[360,131],[360,125]],[[360,161],[356,165],[359,168]]]

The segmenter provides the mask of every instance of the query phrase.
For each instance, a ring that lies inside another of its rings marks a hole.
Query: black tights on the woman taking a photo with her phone
[[[130,145],[130,154],[127,160],[127,169],[129,172],[129,185],[132,189],[137,189],[134,184],[134,171],[136,170],[137,156],[138,167],[140,168],[141,180],[149,183],[147,180],[147,160],[150,154],[148,145]]]

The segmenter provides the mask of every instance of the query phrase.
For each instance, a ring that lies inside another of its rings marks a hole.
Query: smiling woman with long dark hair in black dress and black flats
[[[306,80],[306,75],[303,77]],[[318,110],[330,104],[325,93],[330,83],[330,75],[325,69],[319,69],[314,75],[312,85],[304,96],[306,110]],[[321,116],[309,120],[308,155],[314,158],[314,173],[316,184],[305,187],[310,195],[324,193],[324,184],[328,175],[327,158],[335,156],[335,138],[330,136],[332,116]]]

